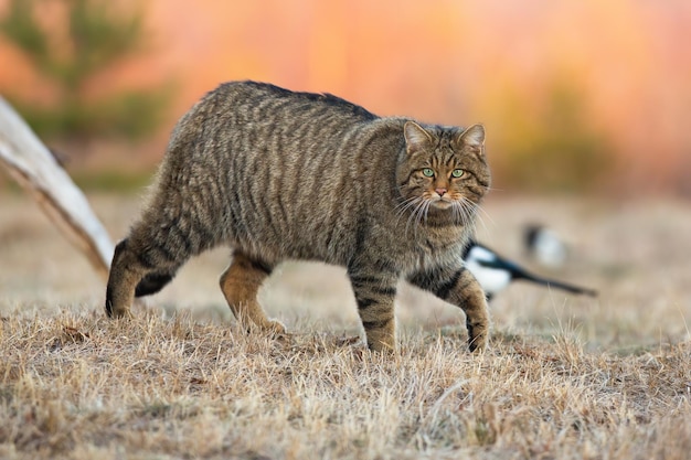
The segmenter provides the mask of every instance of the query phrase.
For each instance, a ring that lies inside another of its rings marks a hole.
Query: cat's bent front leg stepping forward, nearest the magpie
[[[415,274],[408,281],[460,307],[466,313],[468,347],[471,352],[487,347],[489,339],[487,299],[480,284],[468,269],[465,267],[432,269]]]

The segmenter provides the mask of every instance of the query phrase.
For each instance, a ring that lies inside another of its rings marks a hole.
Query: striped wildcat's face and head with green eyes
[[[480,203],[490,186],[482,125],[460,129],[406,121],[403,131],[396,179],[404,203],[411,204],[406,207],[459,213]]]

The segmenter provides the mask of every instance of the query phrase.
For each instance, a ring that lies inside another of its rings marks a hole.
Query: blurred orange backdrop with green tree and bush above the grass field
[[[0,94],[87,190],[148,183],[176,120],[252,78],[481,121],[498,194],[691,195],[689,24],[685,0],[0,0]]]

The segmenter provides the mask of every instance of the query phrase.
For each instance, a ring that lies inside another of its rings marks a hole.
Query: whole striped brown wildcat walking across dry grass
[[[191,256],[233,249],[221,289],[238,321],[284,332],[257,291],[281,261],[343,266],[371,350],[395,347],[405,279],[488,340],[485,293],[463,261],[490,185],[485,128],[378,117],[329,94],[225,83],[177,124],[148,206],[115,249],[110,317],[160,290]]]

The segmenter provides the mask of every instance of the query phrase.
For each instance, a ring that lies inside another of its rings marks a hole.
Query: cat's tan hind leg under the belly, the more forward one
[[[285,333],[286,328],[280,322],[266,318],[257,301],[259,288],[270,272],[272,267],[235,250],[231,265],[221,275],[221,290],[241,324],[254,324],[272,332]]]

